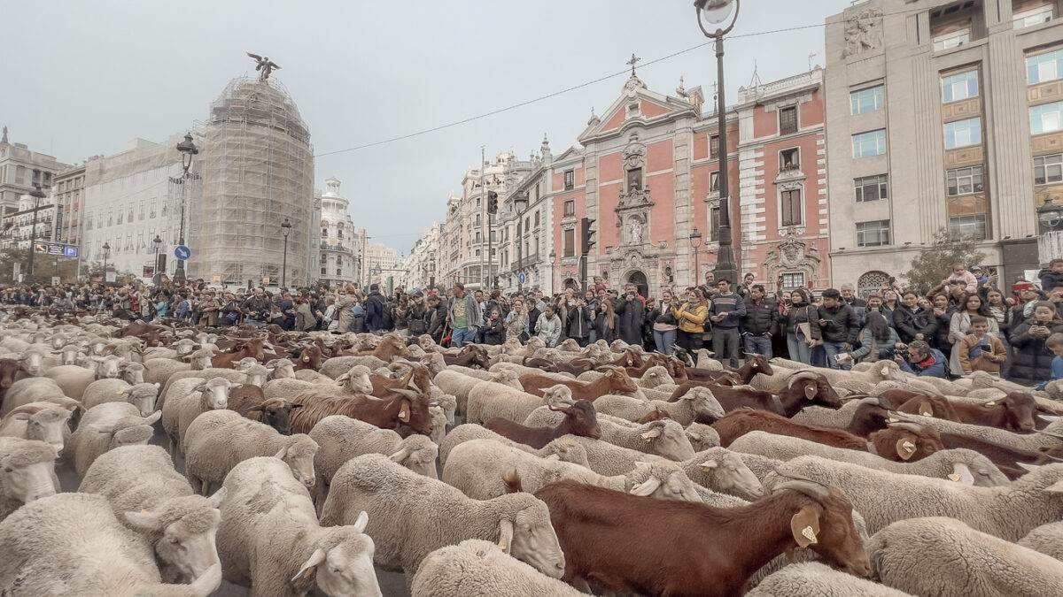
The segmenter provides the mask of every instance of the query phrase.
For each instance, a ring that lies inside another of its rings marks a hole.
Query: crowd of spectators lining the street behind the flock
[[[995,272],[983,275],[977,267],[957,265],[927,293],[891,278],[866,297],[853,285],[819,296],[804,288],[769,293],[753,274],[732,284],[710,273],[704,285],[664,290],[660,297],[643,296],[630,284],[610,289],[602,278],[586,292],[570,288],[552,296],[541,290],[467,292],[459,283],[387,295],[375,284],[368,293],[351,284],[268,291],[216,289],[202,279],[175,286],[164,278],[151,287],[14,285],[0,289],[0,301],[204,326],[398,330],[457,347],[513,338],[526,342],[533,336],[546,346],[567,339],[580,346],[619,339],[665,355],[706,347],[732,368],[760,354],[832,369],[891,359],[916,375],[982,371],[1028,386],[1063,378],[1063,259],[1043,272],[1040,288],[1018,280],[1005,291]]]

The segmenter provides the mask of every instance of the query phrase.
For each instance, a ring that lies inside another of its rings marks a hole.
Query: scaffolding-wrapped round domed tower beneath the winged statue
[[[314,148],[299,108],[276,81],[234,79],[210,105],[200,153],[202,192],[190,203],[190,278],[281,280],[288,218],[289,286],[309,284]]]

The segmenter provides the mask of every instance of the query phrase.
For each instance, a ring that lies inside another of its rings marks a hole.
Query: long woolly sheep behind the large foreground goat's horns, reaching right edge
[[[843,490],[875,533],[890,523],[952,516],[973,528],[1018,541],[1036,526],[1063,518],[1063,464],[1045,464],[1008,485],[975,488],[943,479],[898,475],[846,462],[803,457],[780,471]]]

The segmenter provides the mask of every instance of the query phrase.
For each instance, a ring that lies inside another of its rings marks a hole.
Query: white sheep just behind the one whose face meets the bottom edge
[[[185,475],[192,488],[206,495],[240,462],[256,456],[283,460],[296,480],[313,489],[314,458],[318,444],[305,433],[282,436],[276,429],[240,413],[212,410],[196,417],[185,431]]]

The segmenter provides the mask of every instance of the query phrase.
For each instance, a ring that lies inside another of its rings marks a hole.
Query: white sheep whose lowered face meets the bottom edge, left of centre
[[[225,580],[250,586],[252,597],[302,597],[315,589],[382,596],[365,513],[351,526],[319,525],[306,488],[275,458],[240,462],[223,487],[218,555]]]

